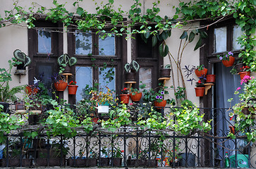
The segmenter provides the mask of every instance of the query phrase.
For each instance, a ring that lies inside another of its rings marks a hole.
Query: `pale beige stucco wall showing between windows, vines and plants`
[[[31,0],[20,0],[19,6],[24,6],[25,8],[28,8],[31,6],[31,3],[33,1]],[[45,0],[45,1],[35,1],[37,4],[35,6],[46,6],[47,8],[50,8],[53,6],[51,4],[51,0]],[[75,7],[73,7],[73,1],[58,1],[60,4],[63,4],[64,2],[67,2],[66,9],[68,11],[75,11]],[[95,1],[98,4],[100,4],[101,1]],[[94,1],[83,1],[80,2],[80,6],[85,8],[88,12],[95,12],[95,2]],[[142,13],[144,13],[145,9],[152,7],[153,0],[145,0],[141,1],[142,3]],[[160,15],[164,17],[164,15],[168,15],[169,17],[172,17],[175,13],[175,9],[173,9],[173,6],[178,6],[179,1],[161,1],[159,4],[160,8]],[[1,6],[0,6],[0,15],[4,16],[5,10],[11,10],[13,8],[12,6],[13,2],[10,0],[1,0]],[[114,8],[121,8],[123,11],[128,11],[130,9],[130,6],[133,4],[133,1],[123,1],[118,0],[115,1]],[[194,26],[194,25],[193,25]],[[177,57],[178,54],[178,45],[179,45],[179,37],[181,36],[183,30],[179,28],[173,28],[171,38],[167,39],[166,42],[169,46],[169,51],[171,54],[173,54],[174,57]],[[2,51],[1,56],[1,62],[0,62],[0,68],[8,68],[7,61],[13,57],[13,51],[15,49],[20,49],[21,51],[25,52],[25,54],[28,54],[28,28],[23,25],[15,25],[15,26],[8,26],[8,27],[2,27],[0,28],[0,50]],[[183,61],[181,63],[182,68],[184,68],[184,65],[198,65],[199,64],[199,50],[193,51],[195,47],[196,39],[193,43],[188,44],[188,46],[185,49],[185,52],[183,54]],[[67,38],[66,34],[64,34],[64,42],[63,42],[63,51],[64,53],[67,52]],[[131,51],[130,51],[130,39],[128,39],[128,61],[130,61],[131,57]],[[170,63],[169,58],[164,58],[164,65]],[[28,69],[28,68],[27,68]],[[15,68],[13,68],[13,73],[15,71]],[[177,69],[176,66],[173,64],[173,73],[176,80],[176,87],[178,87],[177,83]],[[11,86],[19,85],[19,84],[28,84],[28,75],[22,76],[20,83],[18,80],[17,75],[13,75],[13,81],[11,82]],[[169,80],[166,82],[167,86],[173,85],[172,80]],[[194,85],[191,86],[190,82],[186,82],[187,92],[188,92],[188,99],[193,101],[193,103],[197,104],[199,106],[199,98],[195,96],[195,89]],[[171,98],[174,98],[173,91],[170,91]],[[64,93],[64,99],[68,99],[67,92]]]

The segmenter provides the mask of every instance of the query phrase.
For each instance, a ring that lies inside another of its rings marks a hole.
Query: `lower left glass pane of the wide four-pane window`
[[[89,87],[92,87],[92,67],[75,67],[75,80],[78,85],[78,91],[76,92],[76,101],[85,99],[85,87],[88,84]]]

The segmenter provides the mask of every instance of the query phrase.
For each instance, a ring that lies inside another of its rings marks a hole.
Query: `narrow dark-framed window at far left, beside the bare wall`
[[[61,27],[61,23],[37,20],[35,29],[28,30],[28,56],[32,60],[28,69],[28,81],[32,84],[34,78],[42,80],[49,91],[51,91],[51,76],[58,73],[59,69],[56,60],[63,54]],[[63,98],[63,95],[60,98]]]

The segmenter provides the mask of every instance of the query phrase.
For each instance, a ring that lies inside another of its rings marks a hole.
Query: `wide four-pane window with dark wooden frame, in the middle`
[[[71,28],[72,30],[72,28]],[[103,37],[94,31],[68,33],[68,54],[78,58],[73,74],[78,82],[76,101],[84,98],[86,85],[120,94],[123,87],[123,65],[126,63],[126,39]]]

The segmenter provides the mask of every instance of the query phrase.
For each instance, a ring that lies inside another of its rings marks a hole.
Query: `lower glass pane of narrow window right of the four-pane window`
[[[142,84],[146,84],[145,89],[150,90],[152,88],[152,69],[151,68],[140,68],[139,78]],[[142,92],[142,89],[140,89]]]

